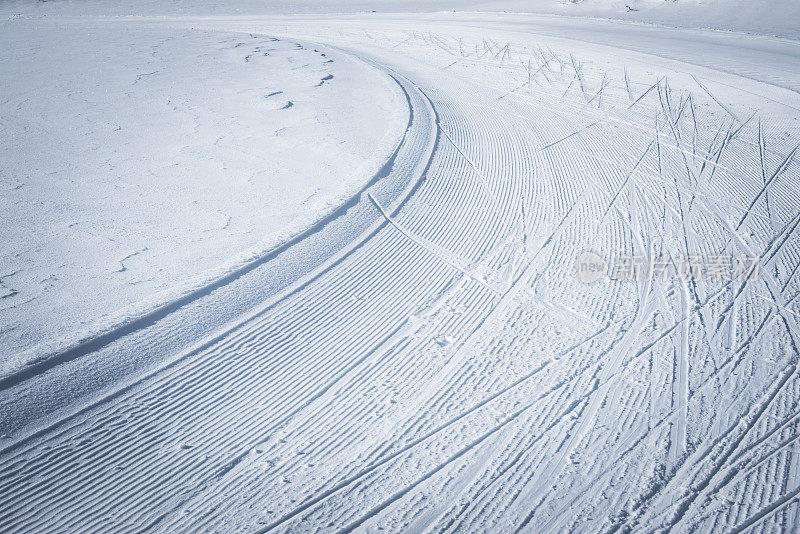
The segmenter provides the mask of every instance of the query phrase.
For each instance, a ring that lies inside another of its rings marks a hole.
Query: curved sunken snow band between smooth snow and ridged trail
[[[191,357],[333,268],[386,224],[369,195],[387,211],[399,210],[422,183],[439,131],[427,96],[399,74],[382,70],[404,93],[409,123],[394,154],[358,194],[301,235],[214,283],[0,379],[0,436],[12,440],[0,444],[0,454]],[[198,322],[187,322],[192,319]],[[178,335],[177,326],[188,334]]]

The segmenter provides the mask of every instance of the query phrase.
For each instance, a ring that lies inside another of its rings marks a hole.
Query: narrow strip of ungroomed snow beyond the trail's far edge
[[[295,13],[431,13],[441,11],[555,14],[679,28],[711,28],[800,39],[796,0],[6,0],[7,16],[196,16]]]

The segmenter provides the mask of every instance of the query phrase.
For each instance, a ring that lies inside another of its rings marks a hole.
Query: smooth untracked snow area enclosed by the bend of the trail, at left
[[[391,78],[293,40],[0,26],[0,375],[296,235],[408,120]]]

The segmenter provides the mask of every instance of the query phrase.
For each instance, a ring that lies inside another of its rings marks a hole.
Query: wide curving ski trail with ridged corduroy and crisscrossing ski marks
[[[391,75],[406,190],[366,189],[372,225],[230,330],[12,436],[0,531],[800,528],[796,70],[497,24],[192,24]],[[584,251],[710,268],[587,284]]]

